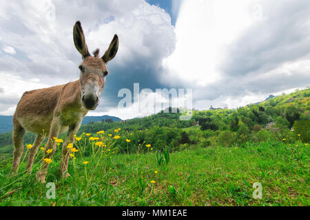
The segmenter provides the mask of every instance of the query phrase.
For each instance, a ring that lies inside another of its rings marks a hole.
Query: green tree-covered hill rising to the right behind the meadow
[[[157,113],[119,122],[88,123],[81,126],[77,135],[97,131],[114,133],[114,129],[121,129],[130,134],[132,146],[145,141],[152,144],[154,150],[219,144],[234,146],[268,140],[310,141],[310,89],[282,94],[238,109],[195,110],[192,119],[187,121],[180,120],[180,115]],[[61,138],[65,138],[65,134]],[[33,140],[34,134],[26,133],[24,143]],[[118,143],[119,149],[125,149],[126,137],[122,136]],[[11,144],[11,132],[0,134],[0,149]]]

